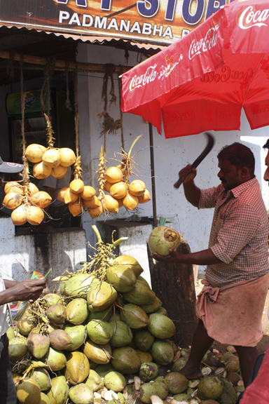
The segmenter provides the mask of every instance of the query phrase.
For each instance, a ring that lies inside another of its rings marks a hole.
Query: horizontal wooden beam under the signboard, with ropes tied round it
[[[20,55],[20,53],[11,53],[8,50],[0,50],[0,58],[17,60],[18,62],[20,62],[21,55]],[[46,66],[48,63],[48,58],[41,58],[39,56],[31,56],[31,55],[23,55],[23,62],[30,63],[32,65]],[[34,67],[33,67],[33,69],[34,69]],[[55,60],[54,69],[64,71],[66,69],[66,61],[65,60]],[[103,73],[103,72],[105,72],[106,65],[101,65],[101,64],[97,64],[97,63],[74,62],[74,60],[69,60],[68,69],[69,70],[78,69],[78,72]],[[132,67],[115,66],[115,73],[123,74],[130,69],[132,69]]]

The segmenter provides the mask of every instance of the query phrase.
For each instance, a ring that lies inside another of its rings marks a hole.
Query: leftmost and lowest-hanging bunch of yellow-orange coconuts
[[[25,185],[20,182],[6,182],[3,206],[12,209],[11,219],[15,226],[26,222],[37,226],[44,218],[43,209],[51,202],[51,196],[45,191],[39,191],[32,182]]]

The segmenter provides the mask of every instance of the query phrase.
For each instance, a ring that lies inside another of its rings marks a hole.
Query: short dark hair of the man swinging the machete
[[[249,147],[244,144],[235,142],[229,146],[225,146],[218,154],[219,160],[228,160],[237,169],[242,167],[249,168],[251,175],[254,175],[255,158]]]

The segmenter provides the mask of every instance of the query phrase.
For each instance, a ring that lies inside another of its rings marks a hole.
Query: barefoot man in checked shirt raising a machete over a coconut
[[[255,159],[240,143],[218,154],[219,187],[199,189],[195,168],[179,172],[185,177],[186,199],[199,209],[214,208],[209,248],[179,254],[170,250],[163,262],[207,265],[204,287],[197,300],[198,328],[188,362],[181,373],[188,379],[201,376],[200,363],[214,340],[235,346],[244,385],[258,356],[262,338],[261,316],[269,285],[268,215],[254,175]]]

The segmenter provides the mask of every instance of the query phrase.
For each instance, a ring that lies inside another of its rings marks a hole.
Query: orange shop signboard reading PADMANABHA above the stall
[[[233,1],[233,0],[232,0]],[[8,0],[0,23],[76,35],[170,44],[229,0]]]

